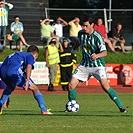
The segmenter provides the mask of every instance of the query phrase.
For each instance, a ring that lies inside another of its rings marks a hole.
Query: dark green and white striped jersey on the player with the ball
[[[84,30],[81,30],[78,33],[78,39],[83,56],[80,64],[85,67],[104,67],[104,58],[97,58],[96,60],[92,60],[91,58],[93,53],[98,54],[106,51],[105,42],[101,34],[94,30],[94,32],[88,36]]]

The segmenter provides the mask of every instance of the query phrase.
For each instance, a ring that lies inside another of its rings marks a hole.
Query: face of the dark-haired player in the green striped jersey
[[[83,23],[84,31],[87,34],[91,34],[93,31],[94,23],[90,24],[88,21]]]

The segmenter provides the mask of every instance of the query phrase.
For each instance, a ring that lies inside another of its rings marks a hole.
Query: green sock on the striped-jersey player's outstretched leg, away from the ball
[[[118,108],[124,108],[117,92],[113,89],[113,88],[109,88],[109,90],[107,91],[108,95],[110,96],[110,98],[115,102],[115,104],[118,106]]]

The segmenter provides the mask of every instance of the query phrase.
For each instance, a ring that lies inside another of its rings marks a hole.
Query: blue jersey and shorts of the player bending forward
[[[16,86],[24,87],[27,65],[34,68],[35,59],[31,53],[15,52],[10,54],[0,67],[1,79],[12,89]]]

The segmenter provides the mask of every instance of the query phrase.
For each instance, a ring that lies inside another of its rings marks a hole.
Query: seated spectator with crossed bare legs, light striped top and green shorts
[[[19,16],[14,17],[14,22],[11,23],[11,32],[12,32],[12,39],[15,42],[20,40],[19,44],[20,51],[22,51],[23,44],[25,45],[25,47],[29,46],[23,36],[24,27],[22,22],[20,22]]]

